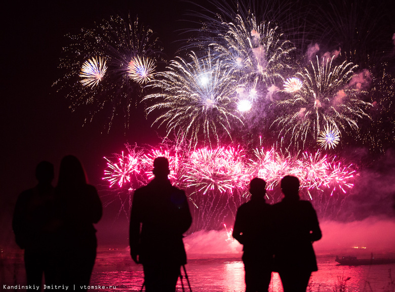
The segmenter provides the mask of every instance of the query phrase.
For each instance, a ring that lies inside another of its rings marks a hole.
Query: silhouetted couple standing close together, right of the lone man
[[[268,291],[271,272],[280,274],[284,292],[305,292],[317,271],[312,242],[322,236],[317,214],[309,201],[299,198],[299,180],[281,180],[284,198],[265,202],[266,182],[250,182],[251,200],[239,207],[233,237],[242,243],[246,292]]]

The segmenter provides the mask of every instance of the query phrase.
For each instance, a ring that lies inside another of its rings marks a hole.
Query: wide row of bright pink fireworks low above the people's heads
[[[331,196],[346,193],[353,187],[356,174],[352,164],[344,166],[347,164],[336,156],[329,157],[320,151],[304,152],[298,158],[284,155],[274,147],[268,150],[261,148],[255,149],[254,155],[247,159],[240,145],[193,151],[177,147],[170,151],[166,148],[163,145],[136,151],[136,147],[129,147],[129,155],[116,155],[115,162],[106,158],[108,163],[103,180],[115,186],[111,188],[113,197],[108,195],[110,202],[114,198],[120,199],[125,214],[128,214],[133,191],[153,178],[152,163],[158,156],[169,159],[170,181],[185,189],[194,205],[195,230],[218,228],[226,221],[225,218],[234,220],[237,208],[248,200],[248,184],[253,177],[266,181],[266,196],[272,203],[281,199],[278,186],[286,175],[299,178],[301,197],[320,203],[325,193]]]

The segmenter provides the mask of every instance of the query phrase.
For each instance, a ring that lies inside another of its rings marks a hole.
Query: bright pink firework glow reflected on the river
[[[91,285],[115,286],[105,291],[140,291],[143,282],[141,265],[136,265],[130,259],[128,252],[98,254]],[[338,266],[334,256],[318,257],[319,271],[313,272],[309,292],[333,292],[339,285],[338,277],[350,277],[346,282],[350,290],[389,291],[389,269],[395,272],[395,264],[348,267]],[[241,255],[205,255],[204,258],[189,257],[185,266],[193,291],[201,292],[242,292],[245,290],[244,266]],[[184,272],[182,271],[184,275]],[[392,276],[393,279],[393,276]],[[185,291],[188,291],[186,279],[183,279]],[[392,287],[393,288],[393,287]],[[91,291],[103,289],[91,289]],[[177,291],[182,291],[179,280]],[[283,292],[281,280],[277,273],[272,273],[269,287],[270,292]],[[392,289],[390,290],[392,291]]]

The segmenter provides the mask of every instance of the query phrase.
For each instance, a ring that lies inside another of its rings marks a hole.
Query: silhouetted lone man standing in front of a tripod
[[[185,192],[172,186],[169,161],[153,161],[154,179],[134,193],[130,216],[130,254],[144,270],[147,292],[174,292],[186,264],[183,233],[192,223]]]

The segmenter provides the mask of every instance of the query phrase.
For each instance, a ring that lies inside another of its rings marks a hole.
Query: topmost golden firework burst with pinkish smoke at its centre
[[[258,23],[251,14],[247,21],[236,15],[234,22],[222,23],[220,41],[211,44],[214,52],[245,80],[263,81],[267,86],[284,80],[289,53],[295,48],[282,40],[279,28],[270,22]]]

